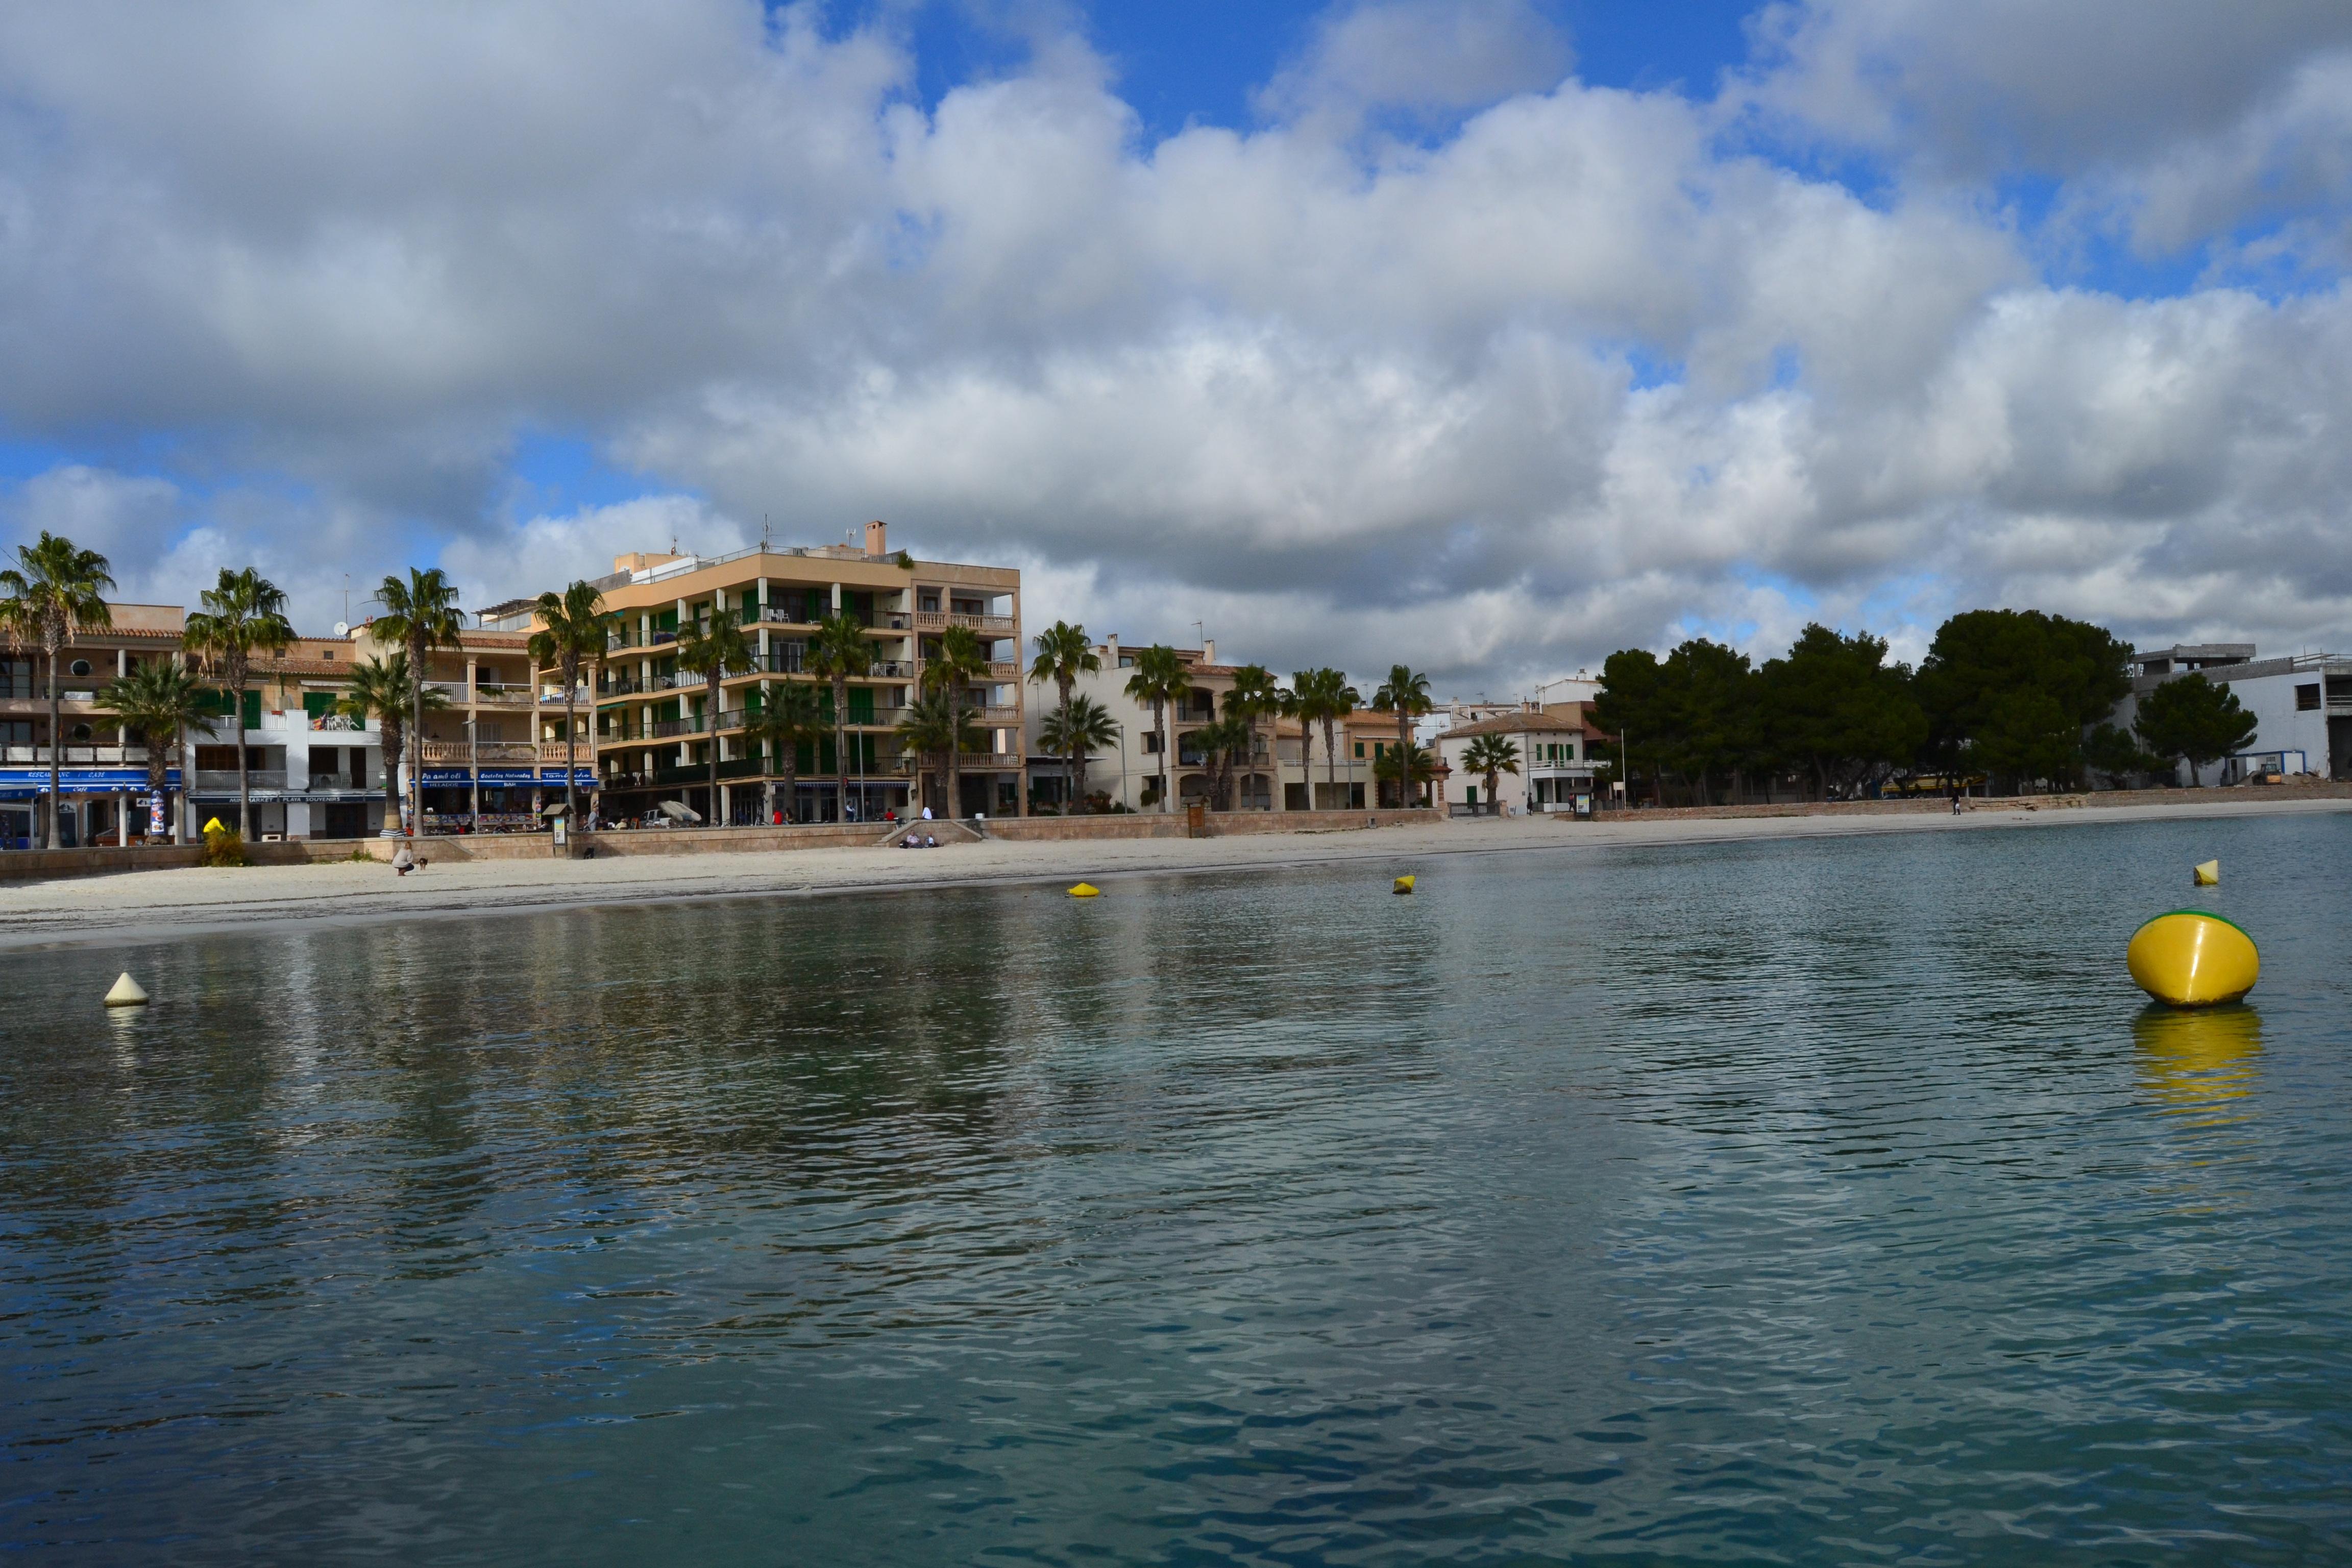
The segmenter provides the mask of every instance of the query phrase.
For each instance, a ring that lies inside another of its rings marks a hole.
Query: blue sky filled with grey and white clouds
[[[0,545],[134,595],[887,517],[1486,691],[2347,642],[2336,2],[118,5],[0,12]]]

